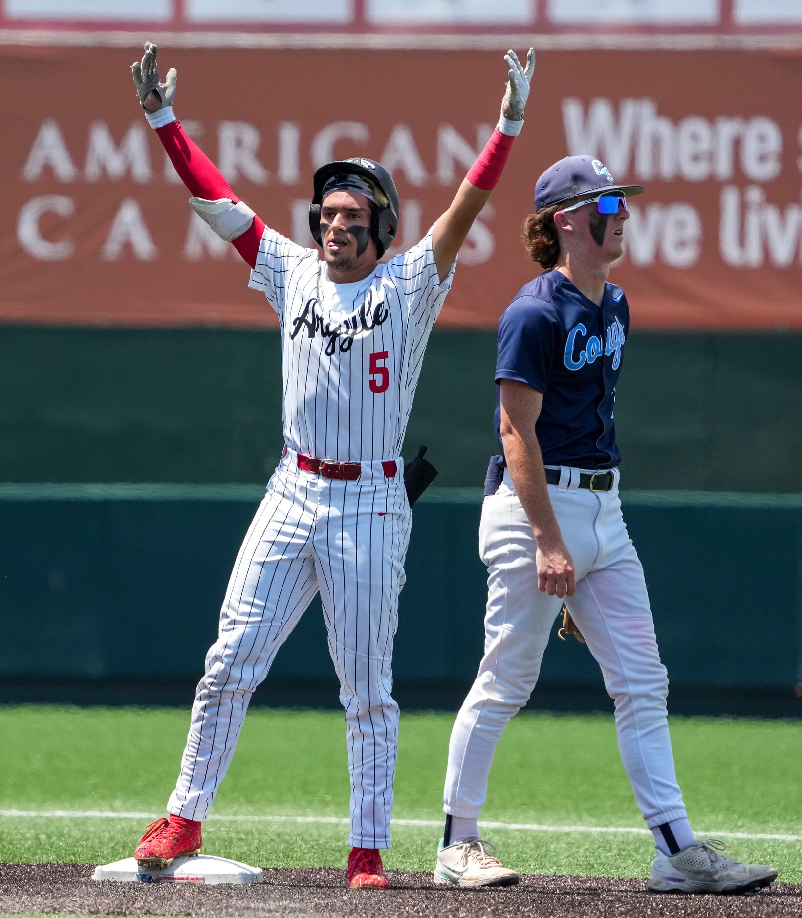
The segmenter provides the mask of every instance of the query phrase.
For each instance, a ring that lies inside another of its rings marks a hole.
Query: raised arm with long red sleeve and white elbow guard
[[[139,103],[156,130],[175,171],[192,194],[190,207],[218,236],[231,242],[251,268],[256,265],[264,232],[262,219],[234,194],[223,174],[181,127],[173,114],[178,73],[172,67],[162,83],[156,66],[156,45],[145,42],[141,62],[131,64]]]

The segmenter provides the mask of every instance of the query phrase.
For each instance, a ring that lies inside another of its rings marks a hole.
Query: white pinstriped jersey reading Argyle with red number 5
[[[353,284],[273,229],[262,236],[249,286],[278,314],[284,440],[339,462],[401,455],[429,332],[451,287],[440,284],[431,230],[408,252]]]

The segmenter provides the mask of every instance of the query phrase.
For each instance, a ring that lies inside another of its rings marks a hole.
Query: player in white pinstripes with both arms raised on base
[[[251,267],[281,328],[286,442],[239,550],[206,656],[169,818],[151,823],[139,864],[197,854],[201,822],[237,743],[251,694],[320,592],[340,679],[351,772],[351,887],[386,887],[398,708],[391,694],[398,594],[411,526],[400,456],[429,332],[459,252],[523,123],[534,52],[509,51],[502,114],[451,206],[386,263],[398,227],[392,178],[364,158],[314,175],[304,248],[239,201],[173,114],[177,74],[162,83],[156,47],[132,66],[139,99],[190,204]]]

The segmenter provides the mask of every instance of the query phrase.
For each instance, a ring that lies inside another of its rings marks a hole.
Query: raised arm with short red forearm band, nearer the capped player
[[[530,48],[526,68],[518,62],[515,51],[504,56],[507,67],[507,92],[501,103],[501,117],[493,136],[462,180],[451,207],[440,217],[432,230],[432,246],[438,274],[442,281],[468,235],[473,220],[490,197],[501,177],[512,141],[523,126],[524,107],[529,96],[529,82],[535,71],[535,51]]]

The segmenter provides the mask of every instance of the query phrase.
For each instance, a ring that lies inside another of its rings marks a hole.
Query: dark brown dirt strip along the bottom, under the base
[[[505,890],[449,890],[428,873],[393,872],[393,889],[348,890],[343,871],[264,869],[259,886],[95,883],[79,864],[0,865],[0,912],[293,916],[293,918],[799,918],[802,887],[752,896],[655,896],[643,880],[523,877]]]

